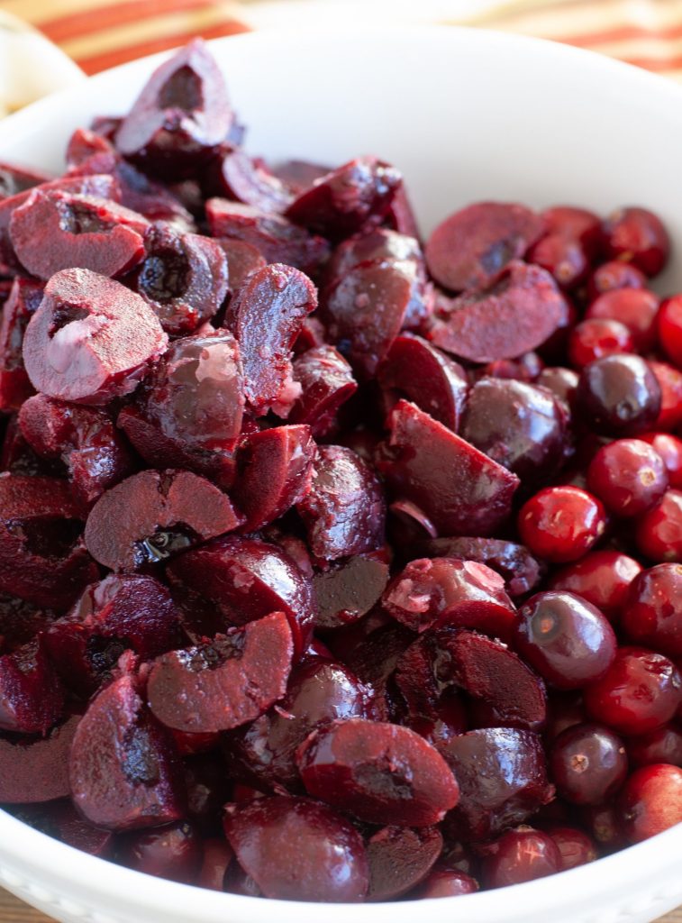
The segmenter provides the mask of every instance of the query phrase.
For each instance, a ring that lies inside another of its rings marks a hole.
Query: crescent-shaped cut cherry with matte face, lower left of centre
[[[292,655],[283,612],[162,654],[150,669],[150,709],[167,727],[192,734],[245,725],[284,695]]]

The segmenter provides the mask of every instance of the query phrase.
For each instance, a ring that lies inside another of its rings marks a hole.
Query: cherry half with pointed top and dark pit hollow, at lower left
[[[90,702],[71,747],[76,807],[98,827],[138,830],[185,816],[182,773],[170,734],[123,676]]]

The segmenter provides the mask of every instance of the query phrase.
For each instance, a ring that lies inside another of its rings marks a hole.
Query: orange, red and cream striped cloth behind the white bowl
[[[0,0],[88,74],[192,35],[348,22],[353,9],[365,22],[464,22],[541,36],[682,80],[682,0]]]

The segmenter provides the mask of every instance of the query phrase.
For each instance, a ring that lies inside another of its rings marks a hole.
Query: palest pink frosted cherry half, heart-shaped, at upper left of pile
[[[24,336],[31,383],[62,401],[102,404],[135,390],[168,337],[139,295],[90,270],[45,286]]]

